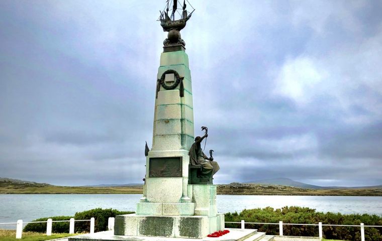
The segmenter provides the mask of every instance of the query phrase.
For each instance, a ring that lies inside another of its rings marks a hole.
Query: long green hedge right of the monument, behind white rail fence
[[[240,213],[226,213],[225,221],[240,222],[271,222],[278,223],[306,223],[306,224],[348,224],[382,225],[382,216],[369,214],[341,214],[316,212],[306,207],[271,207],[244,209]],[[226,227],[239,227],[240,224],[226,223]],[[278,225],[274,224],[245,224],[245,228],[256,228],[267,234],[278,235]],[[283,225],[283,234],[288,236],[318,236],[318,226]],[[323,235],[327,239],[361,240],[360,227],[323,226]],[[365,227],[365,239],[369,241],[382,240],[382,228]]]

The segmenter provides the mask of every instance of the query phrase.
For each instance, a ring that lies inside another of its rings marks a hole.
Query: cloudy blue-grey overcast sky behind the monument
[[[382,184],[381,1],[201,1],[181,31],[216,183]],[[141,183],[165,1],[0,1],[0,177]]]

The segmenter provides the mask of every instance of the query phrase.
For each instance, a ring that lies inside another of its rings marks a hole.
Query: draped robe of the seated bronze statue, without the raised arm
[[[208,157],[203,153],[202,148],[198,147],[197,143],[191,146],[188,155],[190,165],[202,166],[202,177],[210,178],[220,169],[217,162],[206,160]]]

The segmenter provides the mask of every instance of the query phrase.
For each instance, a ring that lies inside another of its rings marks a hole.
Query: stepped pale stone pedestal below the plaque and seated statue
[[[157,189],[153,197],[147,194],[147,199],[158,202],[140,202],[136,214],[118,215],[115,235],[202,238],[224,229],[224,215],[218,213],[216,207],[216,185],[187,185],[189,201],[181,202],[181,186],[172,192],[177,191],[177,196],[166,198],[165,194],[170,190],[161,184],[171,180],[152,181],[157,182],[153,184]],[[172,181],[176,183],[178,180]],[[178,202],[161,202],[169,198]]]

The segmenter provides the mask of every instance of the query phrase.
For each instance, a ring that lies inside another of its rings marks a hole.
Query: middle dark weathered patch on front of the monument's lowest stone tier
[[[148,216],[139,222],[139,232],[144,236],[170,237],[172,234],[173,223],[173,217]]]

